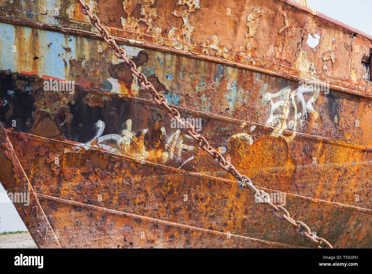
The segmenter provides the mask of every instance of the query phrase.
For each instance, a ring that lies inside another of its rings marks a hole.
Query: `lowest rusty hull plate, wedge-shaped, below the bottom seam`
[[[299,248],[51,196],[38,197],[65,248]]]

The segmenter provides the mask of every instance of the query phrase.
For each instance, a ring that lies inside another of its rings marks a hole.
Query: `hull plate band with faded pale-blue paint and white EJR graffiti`
[[[102,41],[9,24],[3,27],[6,33],[2,41],[11,48],[7,41],[18,37],[19,52],[14,58],[1,51],[2,70],[151,98]],[[97,50],[100,46],[102,52]],[[171,104],[214,114],[215,119],[222,116],[275,126],[276,135],[288,134],[286,139],[299,132],[372,145],[372,99],[324,90],[326,87],[321,91],[301,91],[297,82],[262,73],[155,50],[124,48]],[[293,133],[283,134],[285,129]]]

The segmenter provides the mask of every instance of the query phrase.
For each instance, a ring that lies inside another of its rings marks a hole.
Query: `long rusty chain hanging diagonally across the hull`
[[[247,176],[241,175],[230,162],[226,161],[225,158],[218,151],[216,151],[209,145],[208,141],[203,136],[195,132],[195,128],[190,122],[184,122],[183,120],[181,120],[179,111],[176,110],[176,108],[170,107],[168,105],[167,99],[164,97],[164,95],[159,94],[156,91],[153,84],[148,82],[146,76],[137,69],[137,66],[132,60],[126,59],[126,53],[124,49],[120,48],[116,44],[114,38],[109,35],[106,28],[101,25],[98,17],[96,15],[92,15],[92,9],[90,8],[90,6],[84,4],[82,0],[74,1],[80,4],[81,10],[84,15],[87,15],[89,17],[90,22],[92,23],[94,28],[96,28],[100,32],[103,40],[105,40],[105,42],[113,48],[113,53],[115,54],[115,56],[119,59],[124,60],[132,73],[137,77],[138,83],[140,83],[141,87],[147,91],[153,92],[154,101],[158,105],[162,105],[168,110],[169,115],[177,120],[185,134],[193,138],[202,150],[211,155],[214,158],[215,163],[217,163],[223,170],[234,176],[240,190],[243,191],[243,189],[250,189],[254,193],[254,197],[260,197],[260,202],[267,204],[272,209],[272,213],[275,217],[279,218],[280,220],[287,221],[294,227],[297,234],[315,243],[315,245],[317,245],[317,248],[333,248],[332,245],[325,239],[318,237],[316,234],[312,233],[310,228],[305,223],[292,219],[289,215],[289,212],[284,207],[282,207],[281,205],[274,205],[270,201],[270,195],[268,193],[264,192],[263,190],[258,190],[256,187],[254,187],[251,180]],[[280,211],[282,211],[282,215],[280,215]]]

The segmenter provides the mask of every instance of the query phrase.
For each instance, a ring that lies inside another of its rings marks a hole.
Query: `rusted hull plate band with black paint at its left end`
[[[215,69],[214,73],[217,73],[220,67]],[[4,83],[1,85],[1,98],[7,101],[0,108],[0,115],[4,117],[2,120],[8,128],[46,138],[67,139],[80,142],[86,147],[106,149],[131,158],[232,179],[223,170],[216,169],[217,166],[211,166],[209,155],[201,152],[191,138],[183,136],[180,129],[172,128],[172,122],[165,111],[147,100],[78,86],[74,94],[44,91],[44,80],[31,76],[3,73],[0,79]],[[271,82],[274,83],[273,80]],[[252,89],[256,94],[252,92],[250,100],[252,97],[258,98],[252,102],[259,102],[262,100],[259,94],[265,94],[261,91],[260,83],[259,81],[258,87]],[[284,84],[279,85],[281,88]],[[29,91],[25,91],[26,89]],[[8,94],[9,90],[14,91],[14,94]],[[226,92],[221,97],[227,95]],[[218,91],[214,96],[218,96]],[[310,117],[314,117],[315,113],[319,117],[317,120],[313,118],[314,122],[309,121],[311,118],[305,118],[302,128],[314,131],[317,135],[321,135],[321,132],[324,135],[332,134],[334,139],[346,139],[349,136],[357,143],[363,139],[358,140],[358,135],[353,135],[353,132],[369,137],[371,124],[368,124],[367,114],[371,108],[366,99],[345,98],[347,96],[351,95],[330,91],[330,94],[319,100],[327,104],[318,104],[318,100],[315,101],[314,113]],[[309,97],[304,98],[308,100]],[[250,100],[246,103],[247,113],[256,109],[256,114],[250,116],[252,119],[258,114],[266,117],[265,119],[270,117],[269,102],[264,105],[262,101],[260,109],[250,105]],[[352,111],[365,117],[364,120],[360,118],[360,127],[355,127],[355,123],[350,121],[355,116],[335,109],[335,102],[337,108],[342,110],[351,109],[353,105]],[[221,102],[211,101],[205,104],[211,104],[210,109],[214,109]],[[360,110],[355,111],[358,108]],[[288,129],[278,131],[278,128],[249,120],[217,116],[190,108],[180,108],[180,111],[185,117],[200,118],[201,133],[206,135],[211,144],[216,144],[225,157],[230,157],[232,164],[252,177],[256,185],[371,208],[371,200],[368,199],[370,147]],[[241,112],[242,110],[238,110],[233,114],[237,113],[239,117]],[[340,121],[343,121],[338,128],[333,118],[337,114]],[[345,123],[347,119],[350,126]],[[12,127],[14,120],[18,123],[17,127]],[[100,120],[103,121],[104,128],[102,124],[103,132],[96,136],[99,132],[97,123]],[[98,143],[97,140],[92,141],[95,137],[100,138]],[[368,144],[370,141],[366,138],[364,142]],[[28,157],[32,155],[24,156]]]

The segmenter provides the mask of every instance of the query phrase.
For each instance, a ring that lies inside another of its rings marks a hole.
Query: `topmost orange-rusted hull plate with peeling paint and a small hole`
[[[109,32],[126,43],[157,45],[164,51],[237,62],[288,79],[330,81],[333,89],[372,94],[361,63],[370,55],[371,36],[292,1],[106,0],[89,4]],[[73,0],[4,1],[1,6],[3,22],[14,18],[15,24],[60,32],[94,32],[84,24],[89,19]]]

